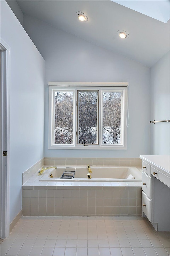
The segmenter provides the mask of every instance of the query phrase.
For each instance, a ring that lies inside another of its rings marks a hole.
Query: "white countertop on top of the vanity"
[[[166,173],[170,173],[170,156],[169,155],[140,155],[144,161],[148,161],[151,165],[162,169]]]

